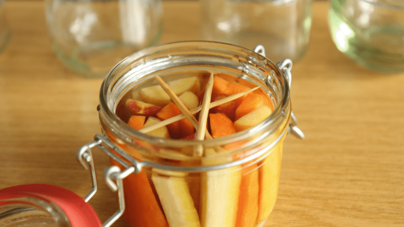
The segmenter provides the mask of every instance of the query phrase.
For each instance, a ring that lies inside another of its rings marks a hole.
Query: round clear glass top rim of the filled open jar
[[[278,79],[280,80],[280,83],[282,83],[283,90],[282,94],[280,97],[280,102],[276,105],[274,105],[274,110],[271,113],[271,115],[261,123],[245,129],[243,131],[239,131],[236,134],[226,136],[226,137],[221,137],[221,138],[215,138],[212,140],[203,140],[203,141],[195,141],[195,140],[173,140],[173,139],[164,139],[164,138],[156,138],[156,137],[151,137],[146,134],[139,133],[137,130],[132,129],[126,122],[121,120],[113,110],[111,104],[109,101],[109,95],[111,94],[111,86],[116,85],[116,81],[113,80],[113,78],[117,75],[117,73],[120,70],[125,70],[125,67],[130,65],[134,60],[139,60],[144,58],[144,56],[149,56],[152,55],[155,52],[159,52],[161,50],[170,50],[172,48],[178,48],[178,47],[189,47],[189,46],[197,46],[199,49],[203,48],[208,48],[208,49],[217,49],[217,50],[230,50],[233,52],[239,52],[243,53],[245,55],[254,55],[258,56],[261,61],[265,61],[265,64],[271,67],[273,71],[275,71],[275,74]],[[140,50],[136,53],[133,53],[132,55],[127,56],[127,58],[121,60],[117,65],[115,65],[110,72],[107,74],[107,76],[104,78],[101,88],[100,88],[100,93],[99,93],[99,98],[100,98],[100,113],[107,117],[107,119],[103,118],[103,120],[108,121],[108,123],[115,128],[119,128],[120,134],[125,135],[126,138],[139,138],[142,140],[145,140],[146,142],[153,142],[153,143],[159,143],[159,144],[164,144],[164,145],[172,145],[172,144],[177,144],[181,143],[184,146],[196,146],[196,145],[207,145],[209,146],[217,146],[218,144],[226,144],[229,142],[237,141],[240,139],[245,139],[251,136],[252,134],[256,133],[257,130],[262,130],[263,128],[267,127],[274,127],[277,128],[279,125],[274,125],[276,122],[279,122],[279,119],[289,119],[290,114],[288,111],[285,111],[286,108],[290,108],[290,96],[289,96],[289,84],[288,84],[288,79],[285,75],[285,73],[278,68],[277,65],[273,64],[269,59],[265,58],[265,56],[262,56],[253,50],[249,50],[247,48],[243,48],[240,46],[232,45],[232,44],[226,44],[226,43],[220,43],[220,42],[212,42],[212,41],[181,41],[181,42],[174,42],[174,43],[168,43],[168,44],[161,44],[153,47],[149,47],[143,50]],[[283,121],[280,121],[283,122]],[[279,123],[280,123],[279,122]],[[287,121],[286,121],[287,122]],[[277,124],[279,124],[277,123]],[[284,126],[285,128],[287,127],[287,124]],[[285,128],[282,129],[282,131],[286,130]],[[283,135],[283,134],[282,134]],[[280,137],[280,135],[279,135]],[[128,141],[127,142],[131,142]]]

